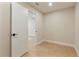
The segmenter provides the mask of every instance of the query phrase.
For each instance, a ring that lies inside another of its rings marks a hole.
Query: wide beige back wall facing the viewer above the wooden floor
[[[45,40],[74,43],[74,8],[55,11],[44,18]]]

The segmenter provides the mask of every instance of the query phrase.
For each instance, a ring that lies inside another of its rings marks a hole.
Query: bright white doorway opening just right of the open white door
[[[37,41],[37,19],[36,13],[28,11],[28,47],[29,50],[34,50]]]

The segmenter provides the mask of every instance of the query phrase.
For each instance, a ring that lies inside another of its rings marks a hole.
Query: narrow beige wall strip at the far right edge
[[[79,3],[75,8],[75,47],[79,56]]]

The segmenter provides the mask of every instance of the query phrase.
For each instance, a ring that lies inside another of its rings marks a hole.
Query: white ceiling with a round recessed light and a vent
[[[55,10],[60,10],[68,7],[75,6],[75,2],[52,2],[53,6],[49,6],[48,2],[37,2],[39,5],[36,5],[35,2],[28,2],[29,5],[38,9],[42,13],[48,13]]]

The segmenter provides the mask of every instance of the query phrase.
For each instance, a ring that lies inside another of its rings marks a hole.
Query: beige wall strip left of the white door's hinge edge
[[[0,3],[0,57],[10,56],[10,3]]]

